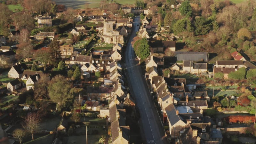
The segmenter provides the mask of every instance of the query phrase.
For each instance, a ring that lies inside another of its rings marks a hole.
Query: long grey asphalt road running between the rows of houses
[[[137,65],[138,60],[135,60],[136,55],[131,44],[133,37],[136,36],[136,31],[139,29],[137,23],[140,23],[139,16],[135,17],[133,20],[133,31],[126,47],[126,75],[128,75],[127,79],[130,84],[130,89],[136,100],[136,107],[140,112],[140,124],[142,125],[144,139],[146,139],[144,141],[146,143],[165,144],[167,140],[164,137],[165,132],[163,125],[161,124],[160,117],[151,98],[142,69]]]

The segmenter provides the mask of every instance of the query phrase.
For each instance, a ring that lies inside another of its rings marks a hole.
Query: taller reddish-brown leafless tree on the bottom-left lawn
[[[32,135],[34,140],[34,133],[39,129],[39,122],[41,121],[38,113],[28,113],[24,119],[23,127]]]

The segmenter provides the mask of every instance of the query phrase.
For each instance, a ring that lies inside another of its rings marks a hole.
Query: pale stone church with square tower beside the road
[[[118,31],[113,31],[113,23],[111,21],[103,21],[103,34],[101,39],[108,44],[124,44],[123,36]]]

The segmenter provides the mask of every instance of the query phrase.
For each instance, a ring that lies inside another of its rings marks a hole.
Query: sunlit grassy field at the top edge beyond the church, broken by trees
[[[100,7],[100,0],[53,0],[56,4],[63,4],[73,9],[96,8]],[[106,3],[109,1],[106,1]],[[116,0],[119,4],[134,4],[135,0]]]

